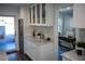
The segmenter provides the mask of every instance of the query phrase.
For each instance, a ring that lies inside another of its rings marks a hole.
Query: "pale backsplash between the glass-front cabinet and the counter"
[[[38,26],[31,26],[31,36],[33,35],[33,31],[36,33],[36,35],[41,34],[44,35],[44,38],[51,38],[51,40],[53,41],[53,27],[38,27]]]

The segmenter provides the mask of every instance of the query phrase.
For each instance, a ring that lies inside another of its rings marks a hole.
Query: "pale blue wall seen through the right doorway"
[[[73,16],[70,14],[62,14],[62,35],[66,36],[68,31],[73,30]]]

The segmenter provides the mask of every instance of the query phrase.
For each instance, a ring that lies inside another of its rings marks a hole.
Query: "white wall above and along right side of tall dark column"
[[[24,20],[24,52],[28,53],[27,40],[30,38],[31,30],[32,30],[29,26],[29,22],[30,22],[29,7],[20,7],[18,16],[19,16],[19,18]]]

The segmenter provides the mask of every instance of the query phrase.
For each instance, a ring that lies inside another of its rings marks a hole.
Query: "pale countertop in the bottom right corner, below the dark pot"
[[[77,55],[75,50],[65,52],[61,55],[70,61],[85,61],[85,55]]]

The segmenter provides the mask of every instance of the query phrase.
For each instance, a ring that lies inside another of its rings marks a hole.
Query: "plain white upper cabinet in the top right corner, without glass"
[[[85,4],[74,4],[73,18],[74,27],[85,28]]]

